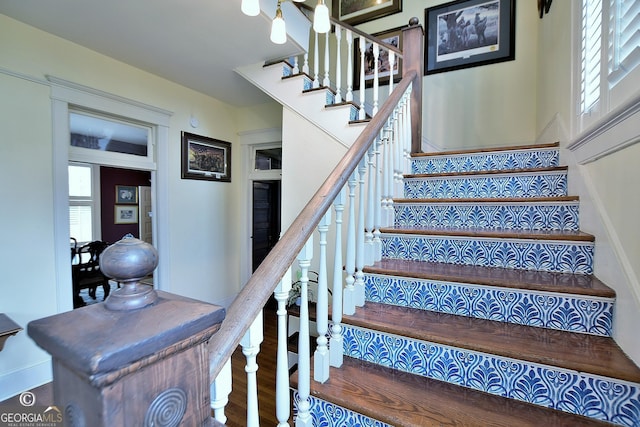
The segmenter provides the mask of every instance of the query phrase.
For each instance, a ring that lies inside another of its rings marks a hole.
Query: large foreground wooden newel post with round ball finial
[[[52,356],[55,410],[70,427],[213,426],[208,341],[224,308],[139,283],[155,249],[124,238],[100,268],[121,288],[104,303],[34,320]]]

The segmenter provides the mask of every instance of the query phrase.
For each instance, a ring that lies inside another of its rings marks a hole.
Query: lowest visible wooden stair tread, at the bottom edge
[[[295,372],[293,387],[297,381]],[[341,368],[331,369],[325,383],[311,381],[311,395],[394,426],[610,425],[350,357]]]

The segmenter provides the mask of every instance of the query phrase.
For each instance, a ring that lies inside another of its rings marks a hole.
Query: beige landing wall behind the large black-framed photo
[[[402,12],[358,28],[376,33],[406,26],[414,16],[425,27],[425,9],[442,3],[445,2],[404,1]],[[536,1],[518,0],[515,3],[515,61],[424,77],[422,136],[427,144],[423,144],[424,151],[517,145],[534,140]]]

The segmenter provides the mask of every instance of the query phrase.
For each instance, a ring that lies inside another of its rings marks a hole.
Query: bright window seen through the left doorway
[[[96,240],[96,181],[92,165],[69,165],[69,231],[78,242]]]

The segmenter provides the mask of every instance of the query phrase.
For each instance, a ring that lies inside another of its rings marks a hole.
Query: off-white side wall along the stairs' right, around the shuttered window
[[[572,44],[572,25],[579,20],[572,4],[554,2],[540,21],[536,134],[540,142],[561,143],[570,192],[580,196],[580,228],[596,238],[595,275],[617,294],[614,337],[640,364],[640,113],[576,146],[585,134],[574,114],[579,67],[573,65],[578,46]],[[630,96],[640,100],[640,90]]]

